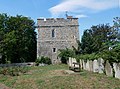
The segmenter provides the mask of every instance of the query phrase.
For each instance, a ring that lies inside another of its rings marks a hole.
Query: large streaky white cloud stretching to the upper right
[[[62,0],[56,6],[49,9],[52,16],[59,16],[66,11],[68,12],[99,12],[118,7],[119,0]]]

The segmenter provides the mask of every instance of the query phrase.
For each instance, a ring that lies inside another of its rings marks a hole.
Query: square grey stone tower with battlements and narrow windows
[[[37,19],[38,39],[37,57],[47,56],[53,64],[59,63],[57,57],[59,49],[77,48],[79,40],[78,18],[68,16],[64,18]]]

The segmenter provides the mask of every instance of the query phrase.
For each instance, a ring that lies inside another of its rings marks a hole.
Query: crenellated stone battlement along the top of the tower
[[[38,18],[38,26],[78,26],[78,18]]]

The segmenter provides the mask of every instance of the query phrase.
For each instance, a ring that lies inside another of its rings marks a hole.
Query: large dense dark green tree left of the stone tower
[[[36,59],[36,32],[35,23],[24,16],[0,15],[3,19],[1,31],[0,53],[2,60],[11,62],[35,61]],[[5,20],[5,21],[4,21]],[[2,22],[1,22],[2,23]]]

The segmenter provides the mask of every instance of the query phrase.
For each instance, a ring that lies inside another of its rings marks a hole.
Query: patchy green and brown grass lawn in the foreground
[[[67,65],[31,67],[20,76],[0,75],[0,83],[10,89],[120,89],[120,80],[83,71],[69,74]]]

